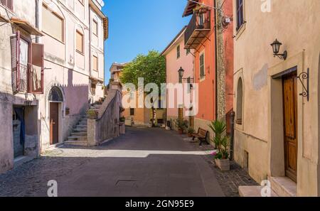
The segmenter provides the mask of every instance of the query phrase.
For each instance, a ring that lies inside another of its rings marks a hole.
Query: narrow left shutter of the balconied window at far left
[[[4,1],[4,0],[2,0]],[[16,36],[11,37],[11,71],[12,71],[12,88],[14,92],[20,90],[20,32],[16,32]]]

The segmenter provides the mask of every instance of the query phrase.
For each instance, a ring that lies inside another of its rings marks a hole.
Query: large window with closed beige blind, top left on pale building
[[[63,18],[50,11],[45,5],[43,5],[42,10],[42,31],[60,42],[64,42]]]

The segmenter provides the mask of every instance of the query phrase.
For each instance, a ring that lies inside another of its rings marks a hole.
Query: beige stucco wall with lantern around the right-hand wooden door
[[[309,67],[310,101],[298,97],[297,194],[319,195],[320,1],[274,0],[271,11],[265,13],[261,1],[244,2],[246,23],[235,37],[235,93],[239,77],[244,84],[243,124],[236,126],[235,159],[243,166],[242,155],[247,151],[249,173],[259,183],[267,175],[284,176],[282,87],[272,75],[296,65],[299,75]],[[286,61],[272,55],[270,43],[275,38],[283,43],[280,53],[288,52]],[[236,96],[234,106],[237,112]]]

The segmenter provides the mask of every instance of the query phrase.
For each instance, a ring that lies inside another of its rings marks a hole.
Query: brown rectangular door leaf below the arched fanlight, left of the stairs
[[[59,104],[50,102],[50,144],[59,142]]]

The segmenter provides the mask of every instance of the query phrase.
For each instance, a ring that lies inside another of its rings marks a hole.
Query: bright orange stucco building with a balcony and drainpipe
[[[217,58],[216,43],[222,42],[215,33],[216,11],[213,0],[197,0],[198,4],[188,1],[183,17],[192,16],[185,32],[185,48],[194,50],[194,75],[198,83],[198,114],[194,127],[210,131],[208,124],[218,118],[218,90],[223,90],[223,113],[233,110],[233,24],[227,17],[233,14],[233,1],[226,0],[223,4],[225,26],[223,27],[223,63]],[[218,1],[218,0],[217,0]],[[201,6],[202,5],[202,6]],[[206,5],[206,6],[204,6]],[[220,43],[222,44],[222,43]],[[217,45],[218,46],[218,45]],[[224,83],[218,89],[220,80],[217,67],[224,65]]]

